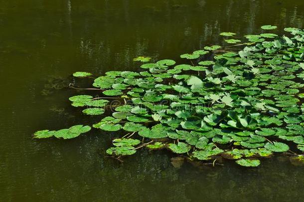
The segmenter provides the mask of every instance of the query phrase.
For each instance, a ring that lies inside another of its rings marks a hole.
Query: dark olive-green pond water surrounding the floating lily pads
[[[178,61],[221,44],[222,31],[258,33],[263,24],[303,28],[304,1],[0,0],[0,201],[303,201],[304,167],[285,158],[255,169],[174,168],[171,154],[142,150],[120,164],[105,155],[120,134],[31,138],[96,122],[70,106],[75,90],[60,89],[75,71],[138,71],[137,56]]]

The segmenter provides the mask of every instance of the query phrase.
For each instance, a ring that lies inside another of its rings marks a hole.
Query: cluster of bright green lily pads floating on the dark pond
[[[261,158],[273,153],[291,152],[303,161],[304,30],[285,31],[282,36],[246,35],[249,42],[242,44],[205,46],[180,55],[184,64],[164,59],[141,65],[141,72],[109,71],[93,86],[104,96],[116,97],[115,105],[91,95],[69,99],[75,107],[86,107],[83,113],[88,115],[114,108],[112,116],[93,125],[104,131],[126,131],[113,140],[109,155],[132,155],[147,147],[167,148],[190,160],[214,161],[221,156],[246,167],[260,165]],[[241,42],[235,33],[220,35],[227,43]],[[238,47],[240,51],[234,51]],[[38,131],[34,137],[58,137],[58,133]],[[64,134],[59,137],[73,137]]]

